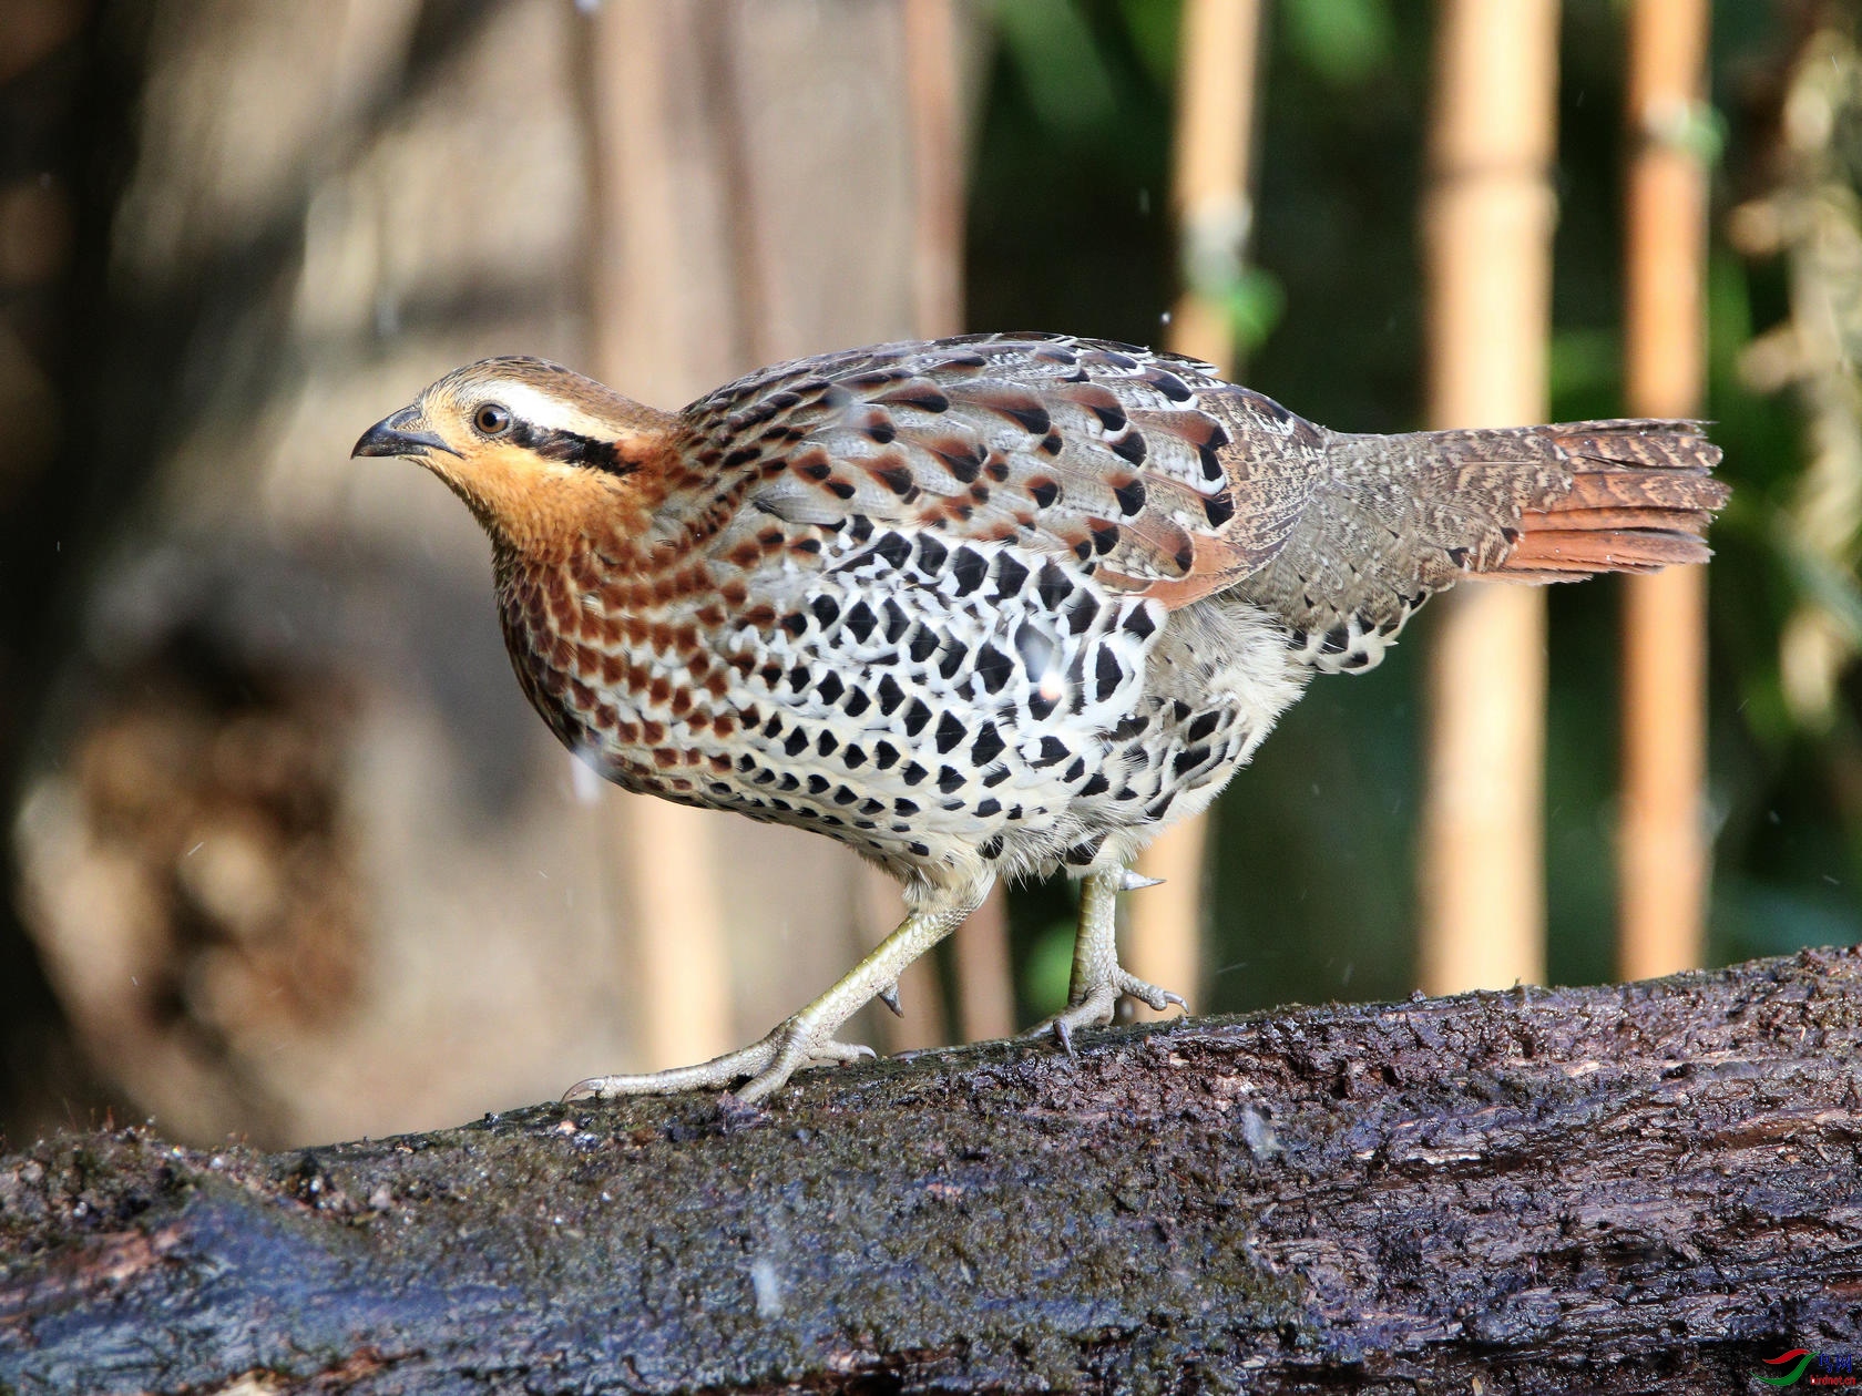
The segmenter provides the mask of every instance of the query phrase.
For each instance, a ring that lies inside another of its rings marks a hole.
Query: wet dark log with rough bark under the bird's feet
[[[1760,1389],[1862,1344],[1862,951],[0,1160],[0,1390]]]

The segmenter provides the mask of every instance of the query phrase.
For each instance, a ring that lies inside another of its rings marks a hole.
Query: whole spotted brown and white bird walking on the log
[[[1378,664],[1436,592],[1704,562],[1694,421],[1335,432],[1134,344],[989,333],[778,363],[681,411],[493,357],[356,456],[443,480],[492,542],[518,681],[624,789],[825,834],[897,929],[763,1039],[566,1098],[756,1102],[871,1055],[842,1024],[996,879],[1082,880],[1073,1050],[1121,998],[1115,897],[1316,674]]]

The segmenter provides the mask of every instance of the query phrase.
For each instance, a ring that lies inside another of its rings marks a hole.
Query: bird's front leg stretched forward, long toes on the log
[[[983,875],[978,882],[957,890],[935,890],[922,905],[912,905],[907,893],[909,916],[899,927],[830,990],[782,1022],[769,1037],[696,1067],[674,1067],[639,1076],[594,1076],[577,1081],[564,1100],[607,1100],[611,1096],[670,1094],[674,1091],[708,1091],[737,1087],[739,1100],[762,1100],[776,1091],[801,1067],[840,1065],[875,1055],[870,1046],[834,1040],[836,1029],[847,1022],[870,998],[894,988],[899,972],[937,942],[955,931],[963,918],[981,905],[994,879]]]

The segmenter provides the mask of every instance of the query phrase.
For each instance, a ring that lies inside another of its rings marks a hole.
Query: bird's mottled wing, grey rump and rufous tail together
[[[1344,436],[1205,363],[1058,335],[803,359],[685,421],[695,488],[737,532],[868,519],[1015,542],[1169,607],[1231,590],[1326,655],[1471,573],[1700,560],[1724,503],[1694,423]]]

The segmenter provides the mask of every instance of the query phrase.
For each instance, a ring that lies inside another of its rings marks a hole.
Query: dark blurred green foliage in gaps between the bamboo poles
[[[1814,9],[1814,7],[1812,7]],[[1793,726],[1778,633],[1814,584],[1778,519],[1802,471],[1789,396],[1748,391],[1741,348],[1786,311],[1784,272],[1726,246],[1765,192],[1802,6],[1713,7],[1719,153],[1707,415],[1734,504],[1711,573],[1711,953],[1730,960],[1862,938],[1862,724],[1851,676],[1827,732]],[[1002,0],[970,190],[974,328],[1156,342],[1181,275],[1167,220],[1179,6]],[[1344,430],[1423,408],[1417,210],[1432,76],[1423,0],[1279,0],[1261,93],[1257,218],[1238,285],[1246,380]],[[1626,411],[1622,389],[1624,13],[1562,19],[1553,417]],[[1853,579],[1838,579],[1853,588]],[[1545,852],[1555,981],[1612,975],[1614,581],[1553,588]],[[1419,692],[1428,611],[1365,678],[1318,679],[1218,808],[1210,983],[1197,1007],[1400,996],[1411,981]],[[1065,992],[1071,888],[1015,895],[1022,1011]]]

